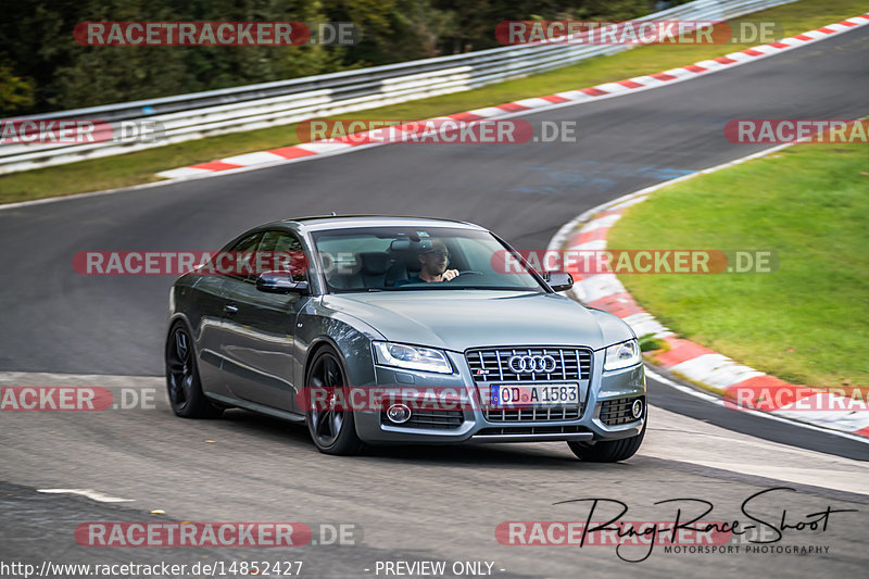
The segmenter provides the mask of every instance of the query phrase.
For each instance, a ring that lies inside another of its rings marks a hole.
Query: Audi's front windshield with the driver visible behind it
[[[312,235],[332,292],[545,289],[487,231],[361,227]]]

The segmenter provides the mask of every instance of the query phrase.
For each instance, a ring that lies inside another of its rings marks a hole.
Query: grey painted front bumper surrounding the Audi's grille
[[[588,388],[582,392],[579,416],[558,419],[519,418],[508,421],[488,419],[479,403],[478,386],[462,353],[448,352],[457,373],[440,375],[424,372],[375,366],[378,387],[419,391],[441,389],[465,392],[466,401],[456,411],[423,412],[413,424],[394,425],[379,410],[354,413],[356,432],[366,442],[375,444],[419,443],[449,444],[458,442],[545,442],[545,441],[600,441],[637,436],[643,428],[643,417],[620,412],[625,404],[640,399],[646,403],[643,365],[616,372],[603,370],[604,353],[594,352]],[[627,401],[627,402],[626,402]],[[602,412],[603,411],[603,412]],[[527,414],[527,413],[526,413]],[[576,414],[576,413],[575,413]],[[408,421],[410,423],[410,421]],[[421,424],[420,424],[421,423]],[[424,426],[431,423],[430,426]]]

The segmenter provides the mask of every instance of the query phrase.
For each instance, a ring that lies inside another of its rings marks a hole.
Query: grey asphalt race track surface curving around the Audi
[[[869,114],[867,54],[869,27],[861,27],[691,81],[527,116],[532,124],[576,121],[577,143],[377,147],[0,211],[8,251],[0,385],[156,390],[153,410],[3,413],[0,558],[303,559],[308,577],[374,577],[377,561],[398,559],[488,561],[503,577],[670,577],[694,575],[700,565],[732,574],[865,574],[865,443],[714,407],[650,380],[646,442],[621,464],[579,463],[564,443],[325,456],[303,428],[244,412],[215,421],[174,417],[155,378],[173,280],[81,276],[72,259],[87,250],[214,250],[260,223],[331,211],[457,218],[490,227],[519,249],[545,249],[587,209],[768,147],[728,142],[730,119]],[[778,502],[757,500],[758,518],[781,520],[783,508],[792,524],[828,506],[858,513],[833,513],[826,532],[785,531],[773,543],[829,547],[802,556],[666,554],[660,546],[646,561],[627,563],[614,546],[508,546],[494,538],[502,521],[584,520],[587,503],[554,504],[583,498],[624,501],[627,520],[671,520],[676,507],[654,503],[684,498],[714,503],[707,520],[746,520],[743,501],[774,487],[793,490],[773,491]],[[36,492],[46,488],[93,489],[133,502]],[[83,521],[160,519],[345,523],[361,539],[354,546],[270,551],[86,549],[73,539]]]

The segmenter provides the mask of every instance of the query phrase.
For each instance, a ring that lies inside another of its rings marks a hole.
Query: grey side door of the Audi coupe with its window
[[[269,230],[263,234],[256,252],[299,255],[302,244],[289,231]],[[252,259],[255,265],[255,256]],[[298,313],[310,298],[260,291],[260,273],[263,272],[229,276],[226,280],[224,370],[236,397],[292,411],[293,332]],[[293,280],[306,281],[306,272],[295,273]]]

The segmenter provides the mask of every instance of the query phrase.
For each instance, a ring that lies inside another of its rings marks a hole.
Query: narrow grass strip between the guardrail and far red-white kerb
[[[791,36],[866,11],[867,5],[861,1],[803,0],[750,14],[740,20],[776,21],[782,25],[782,34]],[[748,48],[748,46],[662,45],[637,48],[613,56],[593,59],[518,80],[501,83],[471,91],[361,111],[340,115],[336,118],[430,118],[469,109],[511,102],[517,99],[540,97],[602,83],[621,80],[632,76],[654,74],[667,68],[742,50]],[[150,182],[160,180],[154,175],[160,171],[214,161],[240,153],[288,147],[298,142],[295,125],[287,125],[187,141],[125,155],[15,173],[0,176],[0,203]]]

